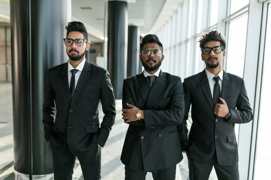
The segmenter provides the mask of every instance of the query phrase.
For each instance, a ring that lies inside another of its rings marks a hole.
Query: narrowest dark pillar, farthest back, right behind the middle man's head
[[[139,27],[128,26],[128,55],[127,55],[127,76],[139,73]]]

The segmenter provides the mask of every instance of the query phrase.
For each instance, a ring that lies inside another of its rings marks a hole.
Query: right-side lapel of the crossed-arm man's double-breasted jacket
[[[161,70],[159,76],[155,79],[155,82],[153,83],[153,86],[150,90],[146,106],[153,106],[157,102],[167,83],[168,79],[166,78],[165,73]]]

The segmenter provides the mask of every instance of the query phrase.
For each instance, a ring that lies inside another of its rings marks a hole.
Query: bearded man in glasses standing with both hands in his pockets
[[[50,68],[45,82],[43,123],[53,155],[55,179],[72,179],[75,158],[84,179],[100,179],[101,148],[115,118],[113,88],[107,70],[86,61],[90,48],[83,23],[66,26],[69,60]],[[99,123],[98,103],[104,113]]]

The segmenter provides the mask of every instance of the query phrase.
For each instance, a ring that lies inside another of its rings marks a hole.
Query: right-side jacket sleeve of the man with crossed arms
[[[172,82],[174,83],[174,82]],[[149,110],[144,109],[145,127],[180,125],[184,116],[184,90],[181,77],[175,81],[170,102],[166,109]]]

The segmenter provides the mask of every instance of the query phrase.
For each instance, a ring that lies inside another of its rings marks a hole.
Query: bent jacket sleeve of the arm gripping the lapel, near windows
[[[236,109],[231,109],[231,117],[228,120],[230,123],[246,123],[252,120],[253,114],[250,107],[244,80],[242,79],[242,85],[240,93],[237,98]]]

